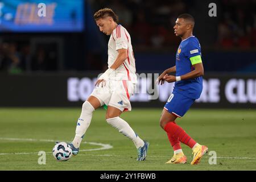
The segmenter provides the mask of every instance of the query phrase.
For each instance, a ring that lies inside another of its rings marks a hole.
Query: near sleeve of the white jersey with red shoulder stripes
[[[113,32],[115,39],[115,50],[128,49],[128,36],[122,26],[117,26]]]

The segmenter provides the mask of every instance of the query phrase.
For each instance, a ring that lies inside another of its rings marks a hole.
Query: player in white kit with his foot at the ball
[[[138,161],[146,159],[149,143],[142,140],[129,124],[119,116],[123,111],[130,111],[130,97],[135,90],[135,59],[131,38],[127,30],[117,24],[118,16],[112,9],[101,9],[94,14],[100,31],[110,35],[108,43],[108,67],[96,81],[92,94],[82,105],[80,118],[77,121],[76,135],[72,143],[73,155],[77,155],[82,138],[90,125],[92,113],[102,105],[108,105],[106,122],[120,133],[133,140],[138,150]]]

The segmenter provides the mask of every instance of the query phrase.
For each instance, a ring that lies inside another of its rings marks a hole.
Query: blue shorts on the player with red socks
[[[193,102],[195,102],[195,99],[185,97],[183,94],[175,92],[168,98],[166,105],[164,105],[164,109],[181,118],[187,113]]]

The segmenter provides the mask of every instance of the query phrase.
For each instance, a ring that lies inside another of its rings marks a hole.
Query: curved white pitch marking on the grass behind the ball
[[[51,139],[32,139],[32,138],[0,138],[0,140],[11,140],[11,141],[28,141],[28,142],[56,142],[56,140]],[[96,143],[96,142],[82,142],[84,144],[92,144],[95,146],[101,146],[101,148],[90,148],[90,149],[84,149],[80,150],[80,152],[84,151],[96,151],[96,150],[108,150],[110,148],[113,148],[110,144],[104,144],[104,143]],[[52,152],[46,152],[46,153],[52,153]],[[26,155],[26,154],[38,154],[38,152],[14,152],[14,153],[0,153],[0,155],[10,155],[10,154],[16,154],[16,155]]]

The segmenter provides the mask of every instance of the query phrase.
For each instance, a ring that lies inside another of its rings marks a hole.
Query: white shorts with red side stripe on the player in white
[[[108,80],[106,86],[95,86],[91,96],[94,96],[108,106],[121,111],[131,111],[130,97],[135,91],[135,84],[128,80]]]

